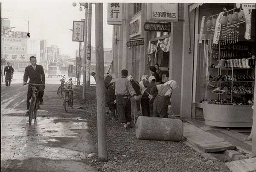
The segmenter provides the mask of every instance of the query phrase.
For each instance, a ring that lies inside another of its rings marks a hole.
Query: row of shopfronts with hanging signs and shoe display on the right
[[[211,126],[253,124],[255,4],[109,3],[108,8],[119,12],[113,21],[113,14],[108,14],[108,24],[113,24],[114,74],[120,76],[127,69],[140,80],[150,75],[149,66],[158,63],[179,85],[172,94],[175,115],[204,117]],[[241,66],[231,65],[231,60]],[[242,66],[242,61],[250,66]],[[219,79],[213,80],[215,76]],[[240,80],[241,76],[246,79]]]

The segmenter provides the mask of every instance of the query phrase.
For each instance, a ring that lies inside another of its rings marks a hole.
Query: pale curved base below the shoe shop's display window
[[[216,105],[201,103],[205,124],[220,127],[251,127],[252,105]]]

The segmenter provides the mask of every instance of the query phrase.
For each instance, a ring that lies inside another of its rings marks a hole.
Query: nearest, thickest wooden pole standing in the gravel
[[[103,3],[95,3],[95,40],[98,157],[99,161],[108,161],[104,85]]]

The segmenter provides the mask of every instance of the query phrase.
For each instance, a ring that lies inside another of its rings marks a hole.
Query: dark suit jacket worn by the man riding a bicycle
[[[23,76],[23,82],[27,82],[29,78],[29,83],[45,84],[44,69],[41,65],[36,65],[35,70],[32,65],[25,68],[25,73]]]

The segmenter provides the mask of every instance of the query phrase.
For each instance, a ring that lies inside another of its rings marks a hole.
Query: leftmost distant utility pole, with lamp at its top
[[[88,3],[80,3],[84,5],[84,58],[83,58],[83,92],[82,98],[85,100],[86,95],[86,43],[87,43],[87,20],[88,20]]]

